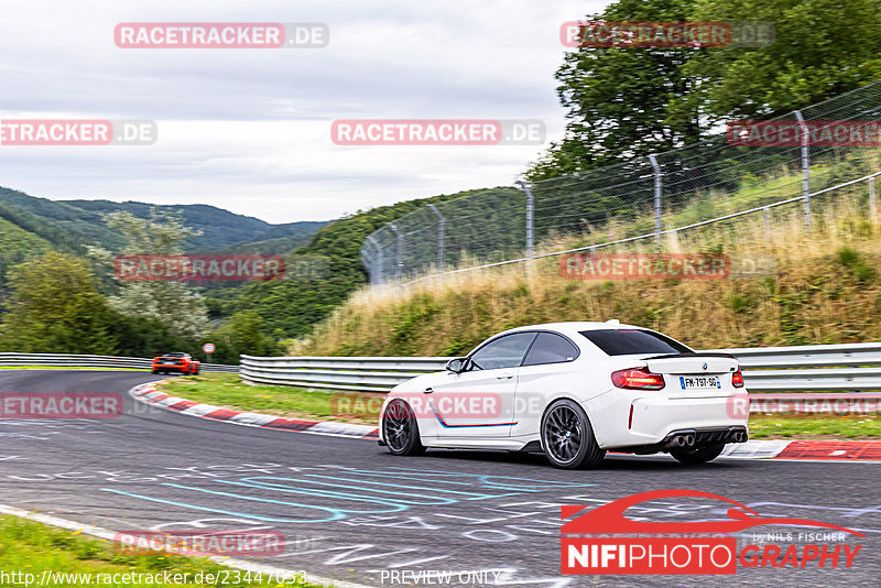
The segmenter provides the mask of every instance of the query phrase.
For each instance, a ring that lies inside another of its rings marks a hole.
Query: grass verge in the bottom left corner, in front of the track
[[[255,588],[262,585],[304,588],[311,586],[278,582],[274,581],[274,577],[268,578],[267,575],[262,576],[262,581],[258,581],[253,574],[246,580],[246,571],[228,568],[203,557],[163,555],[162,553],[121,555],[113,551],[111,542],[84,537],[69,531],[18,516],[0,516],[0,544],[2,545],[0,570],[6,574],[6,577],[0,577],[2,586],[36,586],[41,579],[44,579],[44,570],[55,574],[55,576],[45,577],[45,582],[42,584],[45,586],[100,584],[108,587],[154,587],[160,584],[149,581],[148,578],[163,578],[166,573],[168,576],[180,574],[178,579],[191,580],[174,585],[182,588],[215,586],[214,580],[194,582],[193,580],[199,573],[202,573],[202,579],[205,579],[207,574],[210,574],[214,579],[221,578],[220,582],[227,587]],[[188,576],[183,576],[185,573]],[[28,574],[33,576],[25,576]],[[69,576],[76,574],[80,576]],[[90,575],[90,577],[84,577],[83,574]],[[100,579],[97,576],[99,574],[101,575]],[[141,576],[129,576],[130,581],[124,581],[126,578],[122,576],[124,574],[140,574]],[[32,580],[28,581],[29,578]],[[224,582],[222,578],[226,578],[227,581]],[[104,579],[109,581],[102,581]],[[120,581],[115,581],[116,579]]]

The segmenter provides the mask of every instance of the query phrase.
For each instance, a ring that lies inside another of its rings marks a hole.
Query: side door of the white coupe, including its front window
[[[513,424],[518,369],[535,333],[503,335],[468,357],[467,369],[432,386],[437,436],[508,437]]]

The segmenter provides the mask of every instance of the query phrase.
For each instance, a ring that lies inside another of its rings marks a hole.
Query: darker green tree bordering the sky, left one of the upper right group
[[[696,0],[620,0],[601,21],[685,21]],[[696,141],[697,117],[670,117],[667,105],[695,90],[682,67],[698,47],[591,47],[568,52],[557,69],[566,135],[527,172],[530,179],[600,167]]]

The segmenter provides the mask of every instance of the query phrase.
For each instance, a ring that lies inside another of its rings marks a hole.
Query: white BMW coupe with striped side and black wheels
[[[398,455],[541,451],[566,469],[597,466],[607,450],[703,464],[747,440],[746,394],[726,353],[617,320],[534,325],[396,385],[379,443]]]

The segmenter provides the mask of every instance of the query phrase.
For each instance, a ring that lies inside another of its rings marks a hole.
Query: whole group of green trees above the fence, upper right
[[[606,21],[769,22],[762,47],[579,47],[556,73],[565,138],[530,179],[706,140],[881,79],[881,0],[620,0]],[[877,105],[871,105],[872,109]],[[830,113],[834,118],[835,113]]]

